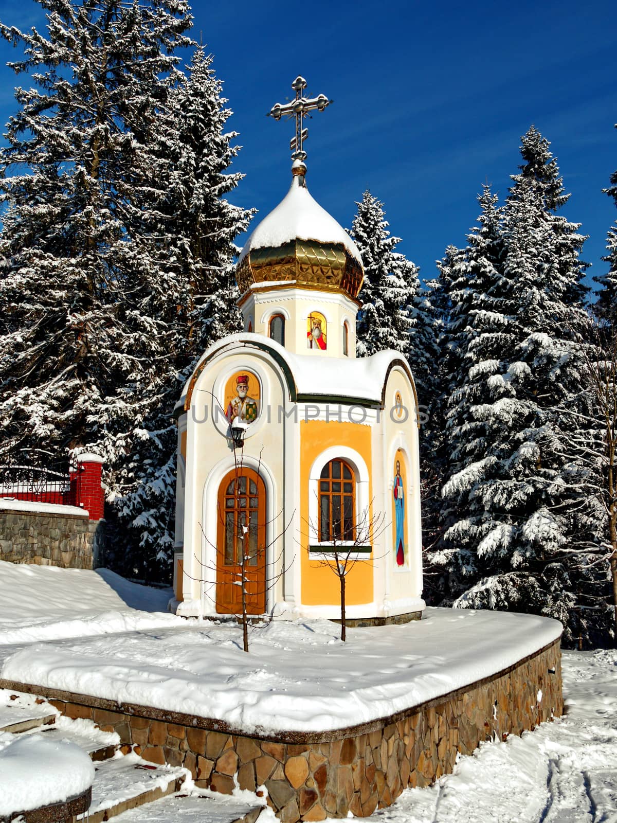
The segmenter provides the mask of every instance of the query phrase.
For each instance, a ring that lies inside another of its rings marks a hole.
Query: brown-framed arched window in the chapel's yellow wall
[[[344,460],[331,460],[319,477],[319,541],[355,540],[355,476]]]

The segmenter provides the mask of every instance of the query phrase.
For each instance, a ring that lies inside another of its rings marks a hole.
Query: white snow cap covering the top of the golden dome
[[[354,241],[334,217],[311,197],[299,176],[292,179],[285,198],[263,218],[249,236],[238,264],[253,249],[276,248],[295,239],[340,243],[362,265],[360,251]]]

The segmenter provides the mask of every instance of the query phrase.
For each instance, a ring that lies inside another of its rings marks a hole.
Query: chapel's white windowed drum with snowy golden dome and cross
[[[304,117],[332,103],[303,96],[276,103],[269,115],[295,118],[291,187],[250,235],[236,270],[244,330],[269,337],[296,354],[355,357],[355,316],[364,279],[360,252],[346,231],[308,193]]]

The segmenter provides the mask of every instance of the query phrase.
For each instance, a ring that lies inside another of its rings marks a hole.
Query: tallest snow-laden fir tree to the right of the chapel
[[[541,612],[572,637],[591,630],[580,607],[597,559],[590,467],[572,446],[589,425],[584,238],[556,213],[568,196],[533,127],[522,156],[503,216],[485,192],[460,286],[452,277],[449,345],[461,365],[448,400],[448,529],[435,560],[459,605]]]

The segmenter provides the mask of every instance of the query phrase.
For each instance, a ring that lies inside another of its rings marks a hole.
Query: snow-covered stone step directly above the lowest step
[[[92,802],[77,820],[102,823],[137,806],[178,792],[186,777],[177,766],[154,765],[133,752],[95,765]]]

